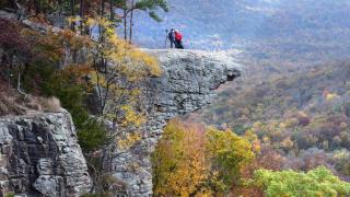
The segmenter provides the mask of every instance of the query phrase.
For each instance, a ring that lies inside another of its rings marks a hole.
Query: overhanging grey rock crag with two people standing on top
[[[150,155],[166,120],[210,104],[214,90],[241,73],[240,66],[224,53],[144,51],[158,57],[163,68],[163,76],[152,79],[148,86],[149,120],[140,142],[129,151],[115,148],[108,152],[109,163],[106,164],[115,177],[127,184],[128,196],[152,195]]]

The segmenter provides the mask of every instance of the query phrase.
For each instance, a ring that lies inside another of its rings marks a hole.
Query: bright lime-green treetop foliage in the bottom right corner
[[[255,184],[272,196],[349,196],[350,183],[340,181],[324,166],[299,173],[291,170],[258,170]]]

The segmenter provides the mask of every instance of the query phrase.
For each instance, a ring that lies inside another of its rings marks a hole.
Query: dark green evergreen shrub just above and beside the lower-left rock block
[[[44,101],[49,112],[57,112],[60,101],[61,106],[72,115],[83,151],[98,149],[107,140],[106,129],[102,123],[89,115],[84,106],[86,88],[75,81],[79,78],[72,78],[73,73],[67,72],[37,62],[26,71],[24,88],[28,92],[49,97]]]

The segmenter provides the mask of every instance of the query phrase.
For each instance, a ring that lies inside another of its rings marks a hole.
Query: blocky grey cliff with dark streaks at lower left
[[[0,186],[26,196],[80,196],[92,181],[68,113],[0,118]]]

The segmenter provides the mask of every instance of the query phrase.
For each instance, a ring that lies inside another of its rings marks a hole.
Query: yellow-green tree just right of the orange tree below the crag
[[[255,154],[252,143],[231,130],[220,131],[209,128],[206,132],[206,155],[210,163],[209,179],[215,193],[225,193],[238,185],[241,170],[249,164]]]

